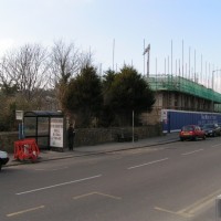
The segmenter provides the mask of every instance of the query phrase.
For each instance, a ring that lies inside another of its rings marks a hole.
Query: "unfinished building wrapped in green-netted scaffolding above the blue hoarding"
[[[148,124],[159,122],[161,109],[221,112],[221,94],[197,81],[172,75],[150,75],[147,81],[156,98],[152,113],[146,116]]]

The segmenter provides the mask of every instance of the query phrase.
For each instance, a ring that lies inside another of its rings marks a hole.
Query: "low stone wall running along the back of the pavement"
[[[75,147],[93,146],[97,144],[116,141],[115,135],[120,133],[122,128],[80,128],[76,129]],[[149,125],[143,127],[135,127],[134,133],[138,135],[139,139],[161,136],[162,129],[158,125]],[[124,128],[124,130],[131,133],[131,127]],[[13,152],[13,143],[19,138],[18,133],[0,133],[0,149],[8,152]]]

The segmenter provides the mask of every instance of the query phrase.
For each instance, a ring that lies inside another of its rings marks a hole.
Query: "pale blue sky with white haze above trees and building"
[[[150,44],[150,74],[202,77],[221,69],[220,11],[220,0],[0,0],[0,55],[62,39],[102,72],[127,64],[146,74]]]

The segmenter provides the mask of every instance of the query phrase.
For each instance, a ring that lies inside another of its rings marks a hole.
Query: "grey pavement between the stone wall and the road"
[[[139,139],[137,141],[125,141],[125,143],[105,143],[94,146],[82,146],[74,148],[73,151],[70,151],[67,148],[57,148],[56,150],[40,150],[38,162],[57,160],[65,158],[83,157],[90,155],[98,155],[105,152],[115,152],[123,151],[136,148],[147,148],[155,147],[157,145],[170,144],[179,140],[178,133],[166,134],[157,137],[149,137],[146,139]],[[60,150],[60,151],[59,151]],[[62,150],[62,151],[61,151]],[[10,160],[4,167],[18,166],[21,164],[27,164],[30,160],[17,160],[13,157],[13,154],[9,154]]]

